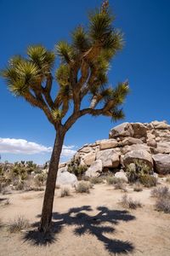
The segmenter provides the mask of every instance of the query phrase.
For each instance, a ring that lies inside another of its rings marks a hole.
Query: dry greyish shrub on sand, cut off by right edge
[[[170,190],[168,187],[152,189],[151,196],[156,197],[157,211],[170,213]]]

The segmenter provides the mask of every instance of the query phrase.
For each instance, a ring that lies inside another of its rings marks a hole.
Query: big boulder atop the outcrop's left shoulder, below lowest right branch
[[[133,127],[129,123],[123,123],[112,128],[109,133],[110,138],[115,137],[133,137]]]

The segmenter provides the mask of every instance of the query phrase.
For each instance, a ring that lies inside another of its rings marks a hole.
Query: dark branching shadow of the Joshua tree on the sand
[[[93,211],[90,206],[71,208],[65,213],[54,212],[50,232],[43,235],[37,230],[30,230],[22,238],[24,241],[30,241],[35,246],[48,245],[57,241],[56,235],[65,226],[74,225],[76,226],[73,230],[75,236],[82,236],[87,233],[95,236],[99,241],[103,242],[105,249],[110,253],[132,252],[134,247],[130,241],[111,239],[105,234],[113,234],[115,232],[115,228],[112,227],[113,224],[119,224],[120,221],[127,222],[135,219],[135,217],[127,211],[110,210],[107,207],[98,207],[97,210],[99,212],[95,215],[88,214],[88,212]],[[41,216],[38,215],[37,217]],[[35,223],[32,226],[37,227],[38,224]]]

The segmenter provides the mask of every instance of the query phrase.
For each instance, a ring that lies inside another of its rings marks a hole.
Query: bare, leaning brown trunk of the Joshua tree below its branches
[[[64,131],[62,131],[61,129],[58,129],[55,137],[53,153],[49,163],[48,178],[47,178],[47,184],[46,184],[45,195],[44,195],[43,206],[42,206],[42,218],[39,226],[39,230],[44,233],[48,230],[51,224],[53,203],[54,203],[55,182],[56,182],[58,166],[59,166],[59,157],[60,157],[62,146],[64,143],[64,138],[65,138]]]

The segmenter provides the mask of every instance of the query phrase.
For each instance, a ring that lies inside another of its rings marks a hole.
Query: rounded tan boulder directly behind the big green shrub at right
[[[146,150],[132,150],[124,155],[123,164],[128,166],[133,163],[135,160],[142,160],[147,166],[150,167],[150,170],[153,168],[153,160],[151,154]]]

